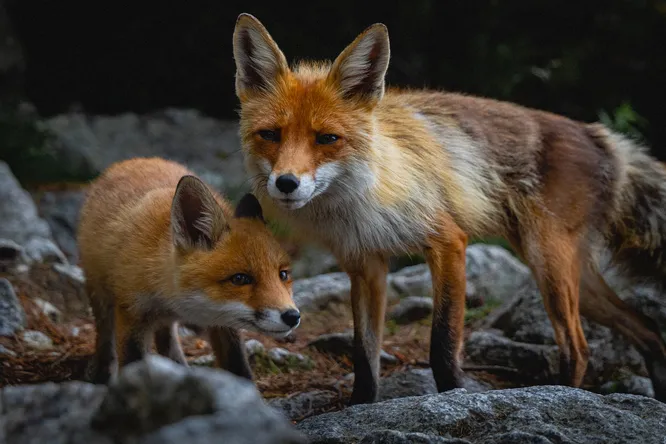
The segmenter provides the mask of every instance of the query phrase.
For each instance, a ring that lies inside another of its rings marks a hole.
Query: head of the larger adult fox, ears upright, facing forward
[[[372,181],[373,110],[389,64],[386,26],[363,31],[333,63],[290,69],[264,26],[241,14],[233,36],[246,165],[258,193],[288,210]]]

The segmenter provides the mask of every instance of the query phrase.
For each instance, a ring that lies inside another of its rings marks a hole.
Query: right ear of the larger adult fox
[[[384,76],[390,57],[388,29],[375,23],[335,59],[328,81],[345,98],[364,99],[375,104],[384,96]]]

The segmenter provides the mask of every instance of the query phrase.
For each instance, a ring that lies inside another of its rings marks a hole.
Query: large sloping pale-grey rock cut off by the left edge
[[[48,224],[37,214],[30,194],[21,188],[6,163],[0,161],[0,238],[21,245],[30,260],[65,262],[51,238]]]

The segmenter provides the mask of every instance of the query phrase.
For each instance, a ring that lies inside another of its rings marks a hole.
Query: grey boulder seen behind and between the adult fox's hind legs
[[[657,309],[656,295],[645,288],[621,292],[620,296],[639,311],[645,307],[653,315],[663,313],[663,302],[661,309]],[[590,347],[586,384],[599,388],[627,372],[647,375],[643,358],[626,338],[584,317],[582,324]],[[534,280],[528,281],[514,298],[492,312],[480,327],[482,330],[470,335],[465,345],[469,361],[512,367],[539,383],[555,382],[559,350]]]

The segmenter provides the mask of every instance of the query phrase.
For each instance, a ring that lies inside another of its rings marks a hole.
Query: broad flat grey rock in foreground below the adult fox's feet
[[[356,405],[305,419],[297,428],[312,444],[442,442],[438,438],[475,444],[657,444],[666,436],[664,417],[666,405],[650,398],[540,386],[484,393],[458,389]],[[417,440],[401,441],[405,435]]]

